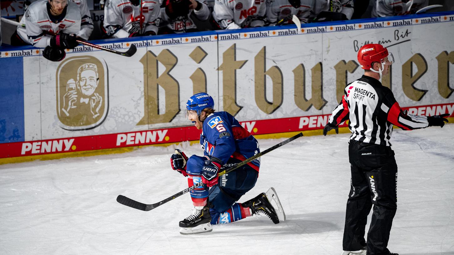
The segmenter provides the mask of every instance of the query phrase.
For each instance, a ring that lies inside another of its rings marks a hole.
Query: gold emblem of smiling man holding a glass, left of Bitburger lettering
[[[65,59],[56,72],[56,109],[60,127],[87,130],[104,122],[109,108],[105,62],[92,56]]]

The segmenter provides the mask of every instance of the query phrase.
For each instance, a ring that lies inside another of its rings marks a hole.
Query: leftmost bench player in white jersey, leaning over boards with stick
[[[47,46],[72,49],[78,45],[80,10],[68,0],[39,0],[32,3],[11,37],[12,45],[24,42],[37,48]]]

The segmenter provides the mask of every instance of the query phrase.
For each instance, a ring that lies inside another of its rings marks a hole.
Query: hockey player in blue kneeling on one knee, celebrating
[[[205,185],[190,191],[194,209],[192,215],[179,222],[180,233],[210,232],[211,225],[238,221],[257,213],[265,214],[275,224],[284,221],[285,214],[273,188],[249,201],[237,203],[255,186],[259,159],[218,177],[222,167],[231,167],[260,152],[256,138],[231,114],[215,112],[213,98],[207,93],[197,93],[189,98],[186,118],[197,129],[202,129],[200,144],[204,156],[188,158],[176,149],[170,162],[173,170],[188,177],[188,186],[199,182]]]

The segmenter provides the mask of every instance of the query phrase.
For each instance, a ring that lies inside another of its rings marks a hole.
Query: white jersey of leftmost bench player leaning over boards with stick
[[[17,34],[24,42],[37,48],[50,46],[50,38],[60,31],[77,34],[80,31],[80,10],[69,1],[61,15],[49,15],[50,5],[47,0],[32,3],[17,26]]]

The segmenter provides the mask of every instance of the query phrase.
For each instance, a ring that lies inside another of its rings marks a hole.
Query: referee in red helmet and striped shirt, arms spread
[[[323,129],[338,133],[338,125],[350,120],[349,160],[351,187],[345,213],[342,255],[398,255],[388,240],[397,209],[397,165],[390,138],[393,125],[404,130],[443,127],[449,114],[418,116],[402,110],[393,93],[380,83],[389,73],[393,54],[380,44],[366,44],[358,52],[364,75],[345,87],[341,103]],[[367,215],[374,205],[365,241]]]

